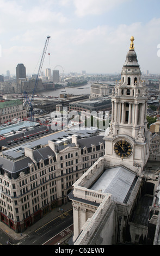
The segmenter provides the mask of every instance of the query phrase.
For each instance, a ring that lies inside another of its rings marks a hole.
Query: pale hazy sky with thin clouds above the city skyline
[[[134,36],[142,72],[160,74],[159,0],[0,0],[0,75],[120,73]],[[49,54],[50,53],[50,54]]]

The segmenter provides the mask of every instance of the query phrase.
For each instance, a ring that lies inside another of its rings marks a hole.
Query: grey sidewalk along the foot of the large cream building
[[[64,212],[69,211],[72,209],[72,203],[69,202],[67,204],[63,204],[60,206],[60,209],[63,209]],[[21,240],[24,237],[28,236],[33,231],[36,231],[37,229],[41,228],[48,222],[52,221],[54,218],[60,216],[62,213],[59,211],[59,206],[52,210],[49,214],[46,214],[41,220],[33,224],[32,226],[28,227],[22,234],[15,233],[13,229],[10,229],[6,224],[3,222],[0,222],[0,229],[5,232],[7,235],[10,236],[11,239],[14,240]]]

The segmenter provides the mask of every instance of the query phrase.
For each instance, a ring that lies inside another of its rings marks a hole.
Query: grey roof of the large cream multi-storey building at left
[[[19,147],[14,147],[12,149],[8,149],[3,151],[4,157],[0,156],[0,168],[1,173],[7,172],[10,175],[10,178],[17,178],[20,172],[27,172],[29,165],[34,163],[34,161],[39,162],[41,159],[46,160],[49,156],[56,156],[54,151],[49,147],[44,147],[49,140],[53,140],[59,137],[65,138],[64,136],[71,136],[77,134],[78,137],[82,136],[82,139],[78,139],[78,144],[80,147],[91,147],[91,144],[99,145],[100,142],[103,141],[103,136],[91,136],[94,135],[95,131],[85,130],[85,131],[76,131],[71,132],[65,131],[54,133],[53,135],[46,136],[44,138],[39,138],[36,141],[21,144]],[[87,137],[86,136],[91,136]],[[84,138],[85,137],[85,138]],[[54,139],[53,139],[54,138]],[[42,145],[42,148],[38,148]],[[69,143],[66,145],[59,145],[58,150],[62,150],[65,147],[75,147],[75,143]],[[24,156],[25,148],[33,148],[33,158]]]

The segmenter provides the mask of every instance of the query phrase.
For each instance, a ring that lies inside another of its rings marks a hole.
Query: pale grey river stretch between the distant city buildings
[[[65,88],[60,88],[57,90],[41,92],[40,94],[44,95],[44,96],[53,96],[53,97],[59,97],[59,95],[62,93],[75,94],[75,95],[82,95],[82,94],[86,95],[86,94],[90,94],[90,86],[91,86],[91,83],[88,83],[83,86],[65,87]]]

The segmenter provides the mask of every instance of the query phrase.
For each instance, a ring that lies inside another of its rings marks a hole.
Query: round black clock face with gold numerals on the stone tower
[[[115,143],[114,151],[116,155],[120,156],[121,158],[124,158],[131,155],[132,147],[130,143],[122,139],[121,141]]]

